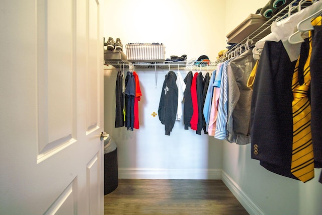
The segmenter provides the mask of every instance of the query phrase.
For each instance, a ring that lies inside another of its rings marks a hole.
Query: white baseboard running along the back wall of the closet
[[[146,169],[119,168],[120,179],[211,179],[221,180],[220,169]]]

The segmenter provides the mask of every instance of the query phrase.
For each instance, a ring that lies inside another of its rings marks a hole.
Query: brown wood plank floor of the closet
[[[105,214],[249,214],[221,180],[119,179]]]

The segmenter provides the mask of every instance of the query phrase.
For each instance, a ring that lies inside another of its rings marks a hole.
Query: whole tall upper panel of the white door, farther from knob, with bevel
[[[74,1],[38,1],[38,163],[75,142]],[[73,132],[74,131],[74,132]]]

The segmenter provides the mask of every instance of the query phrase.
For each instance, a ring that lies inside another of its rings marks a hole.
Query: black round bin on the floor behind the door
[[[104,154],[104,195],[114,191],[119,185],[117,148]]]

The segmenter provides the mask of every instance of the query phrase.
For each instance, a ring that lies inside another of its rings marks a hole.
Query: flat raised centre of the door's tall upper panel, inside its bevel
[[[44,51],[48,74],[48,143],[64,144],[72,138],[72,107],[76,105],[76,92],[72,91],[75,84],[73,59],[76,57],[72,42],[76,39],[72,28],[75,5],[70,0],[55,0],[48,1],[47,8],[42,19],[47,20],[47,38],[44,38],[47,48]]]

